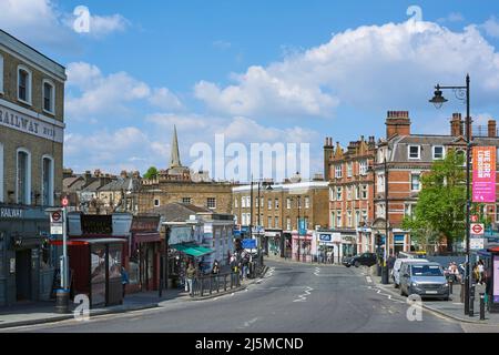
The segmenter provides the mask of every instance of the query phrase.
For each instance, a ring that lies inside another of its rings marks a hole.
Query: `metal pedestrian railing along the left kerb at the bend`
[[[203,297],[213,293],[225,292],[241,286],[240,273],[211,274],[196,276],[193,280],[192,293],[194,297]]]

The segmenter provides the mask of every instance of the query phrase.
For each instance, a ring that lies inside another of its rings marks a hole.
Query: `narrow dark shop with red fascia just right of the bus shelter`
[[[160,285],[160,257],[162,237],[159,214],[139,214],[132,220],[126,293],[157,290]]]

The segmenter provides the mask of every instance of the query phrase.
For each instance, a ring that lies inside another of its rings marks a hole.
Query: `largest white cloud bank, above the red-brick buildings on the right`
[[[436,82],[471,74],[475,104],[499,94],[499,54],[476,26],[452,32],[432,22],[364,26],[266,68],[251,67],[222,87],[200,81],[208,109],[256,118],[332,116],[339,104],[359,109],[421,108]]]

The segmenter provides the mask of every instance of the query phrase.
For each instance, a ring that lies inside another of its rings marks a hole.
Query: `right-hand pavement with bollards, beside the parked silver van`
[[[404,296],[400,296],[399,288],[395,288],[391,280],[388,285],[381,284],[381,277],[376,275],[376,270],[374,267],[370,268],[371,271],[369,275],[371,276],[373,282],[376,284],[376,286],[405,300]],[[473,316],[472,317],[467,316],[465,314],[465,304],[460,302],[460,292],[461,285],[454,284],[452,294],[450,295],[449,301],[430,300],[430,298],[422,300],[422,307],[459,322],[499,325],[499,313],[489,313],[487,312],[487,308],[485,314],[486,317],[485,321],[480,321],[480,297],[478,294],[476,294],[475,296]]]

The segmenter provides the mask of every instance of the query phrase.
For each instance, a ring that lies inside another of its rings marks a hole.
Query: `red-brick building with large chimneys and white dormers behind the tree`
[[[386,235],[386,200],[388,201],[388,245],[390,254],[410,251],[414,243],[410,231],[401,229],[405,215],[414,213],[418,194],[421,190],[420,178],[431,170],[436,160],[445,158],[446,152],[456,150],[466,152],[464,120],[460,113],[452,114],[448,135],[415,134],[410,130],[409,112],[388,111],[386,119],[386,138],[378,142],[375,171],[375,221],[374,234]],[[473,143],[477,145],[499,146],[496,121],[488,126],[472,128]],[[385,166],[386,159],[386,166]],[[388,174],[388,193],[385,192],[386,172]],[[498,205],[486,205],[486,213],[492,221],[498,221]],[[374,251],[374,245],[370,245]]]

